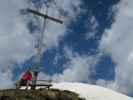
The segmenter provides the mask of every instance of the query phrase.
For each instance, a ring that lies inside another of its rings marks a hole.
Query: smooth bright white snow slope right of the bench
[[[133,100],[110,89],[84,83],[54,83],[52,88],[76,92],[86,100]]]

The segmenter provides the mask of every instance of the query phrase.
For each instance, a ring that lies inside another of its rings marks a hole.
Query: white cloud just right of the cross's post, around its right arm
[[[55,5],[50,5],[48,8],[48,15],[62,20],[63,24],[58,24],[53,21],[47,20],[47,28],[44,35],[44,43],[47,48],[53,46],[57,47],[59,41],[65,35],[67,30],[67,25],[72,21],[76,20],[78,14],[83,10],[80,8],[82,4],[81,0],[55,0]],[[75,11],[76,8],[77,10]],[[45,13],[45,6],[42,7],[41,12]],[[66,16],[60,15],[59,9],[63,9],[63,12],[67,13]]]

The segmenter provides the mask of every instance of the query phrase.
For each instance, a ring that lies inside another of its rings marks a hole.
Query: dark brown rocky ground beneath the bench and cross
[[[0,100],[84,100],[78,94],[57,89],[1,90]]]

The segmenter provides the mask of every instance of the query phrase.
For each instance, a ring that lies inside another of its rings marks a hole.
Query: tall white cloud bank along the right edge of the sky
[[[106,29],[100,49],[111,55],[116,63],[114,83],[117,90],[133,92],[133,0],[121,0],[110,29]]]

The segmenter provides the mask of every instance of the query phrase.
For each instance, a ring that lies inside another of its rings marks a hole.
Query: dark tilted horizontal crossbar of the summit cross
[[[35,11],[35,10],[27,9],[27,11],[30,12],[30,13],[33,13],[33,14],[35,14],[35,15],[41,16],[41,17],[43,17],[43,18],[53,20],[53,21],[58,22],[58,23],[60,23],[60,24],[63,23],[63,21],[61,21],[61,20],[59,20],[59,19],[56,19],[56,18],[51,17],[51,16],[48,16],[48,15],[46,15],[46,14],[42,14],[42,13],[37,12],[37,11]]]

